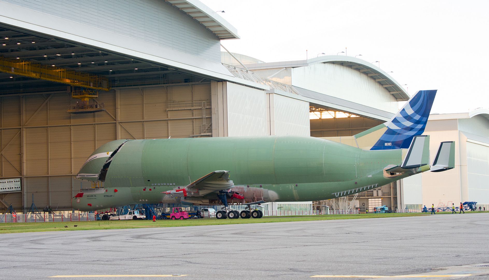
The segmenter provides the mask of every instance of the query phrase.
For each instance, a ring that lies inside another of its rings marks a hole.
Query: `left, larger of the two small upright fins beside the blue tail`
[[[400,167],[402,169],[412,169],[427,164],[429,164],[429,136],[415,136]]]

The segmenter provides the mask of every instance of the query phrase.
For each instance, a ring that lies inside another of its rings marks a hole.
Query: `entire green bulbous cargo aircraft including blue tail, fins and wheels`
[[[430,166],[429,136],[422,135],[435,95],[419,91],[391,120],[342,142],[303,136],[111,141],[76,176],[102,187],[81,189],[72,207],[222,205],[217,218],[260,218],[250,205],[326,200],[445,171],[455,165],[454,142],[442,142]],[[231,203],[248,210],[229,210]]]

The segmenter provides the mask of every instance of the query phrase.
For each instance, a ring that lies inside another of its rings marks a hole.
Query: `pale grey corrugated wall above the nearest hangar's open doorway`
[[[219,38],[163,0],[1,1],[221,62]]]

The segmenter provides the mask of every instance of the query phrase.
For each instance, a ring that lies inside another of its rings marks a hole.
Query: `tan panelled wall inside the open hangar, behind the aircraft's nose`
[[[89,187],[73,175],[96,148],[116,139],[208,136],[210,99],[210,83],[112,90],[97,98],[106,112],[71,115],[76,101],[68,93],[0,97],[0,178],[23,176],[24,195],[0,199],[20,210],[34,194],[38,209],[69,209],[73,193]]]

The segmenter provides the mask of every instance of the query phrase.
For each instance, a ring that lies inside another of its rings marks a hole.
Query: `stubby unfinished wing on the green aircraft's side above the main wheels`
[[[210,192],[234,187],[233,181],[229,180],[229,171],[217,170],[200,177],[184,188],[164,191],[164,194],[175,196],[202,196]]]

